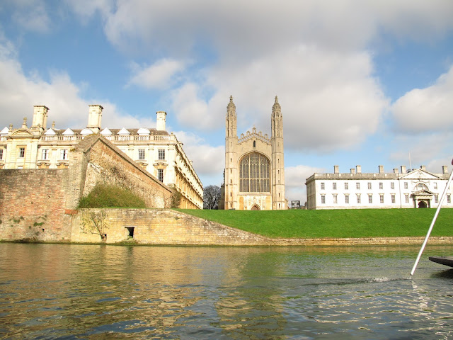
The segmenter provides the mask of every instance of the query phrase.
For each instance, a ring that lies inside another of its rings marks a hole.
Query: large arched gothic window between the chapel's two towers
[[[239,191],[243,193],[270,192],[270,162],[258,152],[247,154],[239,163]]]

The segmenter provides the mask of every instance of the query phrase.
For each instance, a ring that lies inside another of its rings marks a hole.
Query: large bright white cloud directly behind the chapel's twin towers
[[[328,151],[351,147],[374,132],[387,100],[372,77],[365,52],[327,52],[300,46],[252,60],[236,69],[213,67],[204,84],[175,92],[181,123],[198,130],[224,126],[229,95],[241,127],[257,125],[270,135],[274,96],[279,96],[285,147]],[[200,98],[214,89],[209,100]]]

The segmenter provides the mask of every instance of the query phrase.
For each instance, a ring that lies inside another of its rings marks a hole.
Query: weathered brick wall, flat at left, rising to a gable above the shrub
[[[118,183],[149,208],[169,208],[173,191],[101,135],[71,149],[67,169],[0,170],[0,239],[70,241],[79,198],[97,182]]]

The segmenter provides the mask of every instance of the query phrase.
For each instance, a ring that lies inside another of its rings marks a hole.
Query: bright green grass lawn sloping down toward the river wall
[[[435,209],[180,210],[267,237],[425,236]],[[453,209],[443,209],[432,236],[453,236]]]

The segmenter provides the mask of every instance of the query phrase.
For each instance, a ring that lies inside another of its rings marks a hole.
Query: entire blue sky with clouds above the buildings
[[[225,115],[270,135],[282,107],[288,200],[314,172],[392,172],[453,155],[451,0],[2,0],[0,130],[33,106],[48,127],[154,128],[223,181]],[[30,126],[30,123],[28,124]]]

